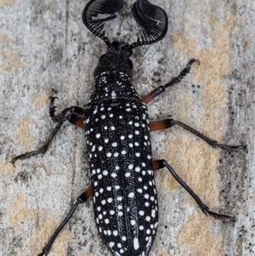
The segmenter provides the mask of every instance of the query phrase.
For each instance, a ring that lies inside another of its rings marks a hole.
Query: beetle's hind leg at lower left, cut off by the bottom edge
[[[50,251],[55,239],[57,238],[57,236],[59,236],[60,231],[65,227],[69,219],[71,219],[71,216],[77,209],[77,206],[83,202],[86,202],[90,196],[92,196],[91,185],[88,186],[88,189],[84,191],[82,195],[77,197],[77,202],[75,202],[75,204],[72,206],[70,212],[66,215],[65,219],[62,221],[59,227],[54,231],[53,236],[49,238],[47,245],[42,249],[42,253],[40,253],[38,256],[48,255],[48,252]]]

